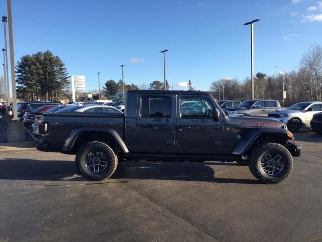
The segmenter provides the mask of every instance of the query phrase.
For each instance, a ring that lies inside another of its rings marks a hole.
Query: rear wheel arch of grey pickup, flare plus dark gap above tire
[[[129,150],[116,130],[101,127],[76,127],[69,133],[61,151],[62,153],[75,153],[86,141],[105,141],[113,146],[119,146],[123,153]]]

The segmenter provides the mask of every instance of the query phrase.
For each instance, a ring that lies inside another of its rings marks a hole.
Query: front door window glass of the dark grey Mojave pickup
[[[183,97],[180,103],[187,100],[193,100],[195,104],[191,107],[181,107],[180,114],[182,118],[212,118],[213,106],[208,98]]]

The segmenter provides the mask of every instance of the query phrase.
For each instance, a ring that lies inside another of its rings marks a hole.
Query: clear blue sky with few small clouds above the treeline
[[[3,1],[4,3],[5,1]],[[2,15],[7,8],[2,4]],[[49,50],[86,89],[122,77],[127,84],[163,81],[163,56],[173,89],[209,90],[221,78],[296,70],[312,44],[322,42],[322,0],[12,0],[15,62]],[[1,32],[3,29],[1,28]],[[0,45],[3,40],[0,38]],[[4,48],[4,47],[2,47]]]

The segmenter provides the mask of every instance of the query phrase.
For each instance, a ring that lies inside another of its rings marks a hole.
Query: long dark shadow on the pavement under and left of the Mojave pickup
[[[209,165],[215,166],[209,167]],[[223,167],[224,166],[224,167]],[[201,181],[209,183],[241,183],[258,184],[253,179],[219,178],[215,173],[220,170],[237,166],[235,163],[221,162],[148,162],[138,163],[121,162],[112,179],[139,180],[178,180]],[[245,169],[248,169],[245,167]],[[63,180],[62,176],[77,174],[74,161],[61,160],[33,160],[12,159],[0,160],[0,179],[19,180],[47,180],[47,181],[86,181],[84,178],[74,176]],[[229,171],[228,171],[229,175]],[[127,182],[122,180],[122,183]],[[89,184],[111,183],[111,180],[89,182]]]

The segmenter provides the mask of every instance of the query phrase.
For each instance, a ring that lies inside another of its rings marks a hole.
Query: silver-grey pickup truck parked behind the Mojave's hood
[[[247,114],[254,116],[267,116],[268,113],[281,109],[278,100],[246,100],[239,103],[236,107],[223,108],[228,114]]]

